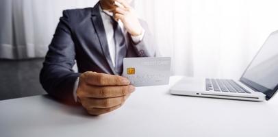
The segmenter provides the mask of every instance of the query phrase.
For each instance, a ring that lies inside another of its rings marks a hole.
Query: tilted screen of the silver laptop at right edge
[[[240,82],[264,92],[267,100],[273,97],[278,88],[278,31],[270,34]]]

